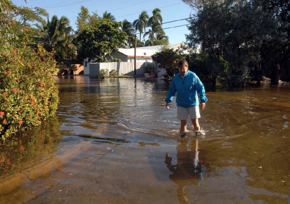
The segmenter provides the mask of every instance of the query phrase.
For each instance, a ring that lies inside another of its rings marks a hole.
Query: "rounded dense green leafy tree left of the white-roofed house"
[[[127,34],[121,32],[121,27],[122,22],[107,19],[97,21],[94,27],[87,26],[78,36],[80,60],[106,61],[105,54],[117,51],[118,46],[127,40]]]

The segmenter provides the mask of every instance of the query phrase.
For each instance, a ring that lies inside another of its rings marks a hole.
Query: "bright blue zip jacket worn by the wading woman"
[[[204,85],[198,76],[189,70],[184,75],[184,78],[182,78],[180,73],[174,76],[170,83],[165,102],[171,102],[175,94],[177,106],[184,108],[199,105],[197,94],[200,95],[201,101],[205,103],[208,101],[205,96]]]

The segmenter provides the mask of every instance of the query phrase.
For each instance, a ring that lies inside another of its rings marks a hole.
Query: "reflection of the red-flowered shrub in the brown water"
[[[60,141],[59,122],[56,117],[41,127],[22,133],[20,137],[1,141],[1,177],[20,172],[55,155]]]

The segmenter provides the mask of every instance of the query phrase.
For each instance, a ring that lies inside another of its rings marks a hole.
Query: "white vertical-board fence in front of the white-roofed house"
[[[149,62],[136,62],[136,75],[144,75],[144,67]],[[157,67],[155,63],[153,65],[153,72],[157,73]],[[134,75],[134,62],[103,62],[103,63],[90,63],[90,78],[97,78],[100,70],[116,70],[119,75]]]

